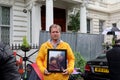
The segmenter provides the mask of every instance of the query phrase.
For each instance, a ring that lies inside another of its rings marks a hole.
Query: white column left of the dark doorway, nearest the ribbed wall
[[[41,5],[34,3],[32,7],[32,44],[39,44],[39,32],[41,30]]]

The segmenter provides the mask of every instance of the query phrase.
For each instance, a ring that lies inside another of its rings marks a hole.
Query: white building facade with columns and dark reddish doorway
[[[118,0],[116,0],[118,1]],[[112,0],[0,0],[1,6],[10,9],[10,43],[21,43],[27,36],[32,44],[39,43],[39,32],[49,31],[53,23],[62,26],[62,32],[72,32],[68,28],[69,15],[80,13],[80,33],[100,34],[112,26],[120,26],[120,3]],[[23,12],[27,10],[27,13]],[[9,11],[9,10],[8,10]],[[1,15],[3,16],[3,15]],[[8,25],[1,25],[8,26]],[[7,35],[7,34],[5,34]]]

